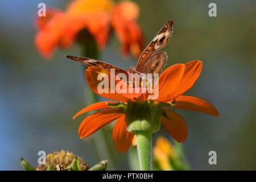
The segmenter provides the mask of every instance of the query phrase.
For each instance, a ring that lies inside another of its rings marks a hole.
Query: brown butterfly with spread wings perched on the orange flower
[[[167,53],[158,52],[162,47],[166,46],[171,40],[172,31],[173,31],[173,21],[168,20],[166,24],[161,28],[161,30],[156,34],[154,39],[148,44],[144,49],[141,56],[139,57],[136,67],[131,67],[128,71],[124,69],[115,67],[112,64],[104,63],[95,59],[90,59],[87,57],[77,57],[77,56],[66,56],[68,59],[75,61],[80,61],[81,63],[90,66],[101,67],[105,69],[115,69],[115,73],[161,73],[163,68],[167,63]]]

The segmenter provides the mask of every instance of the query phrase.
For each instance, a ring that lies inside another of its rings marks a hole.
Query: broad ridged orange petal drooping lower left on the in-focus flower
[[[118,113],[119,109],[108,109],[91,114],[81,122],[79,126],[79,137],[85,138],[93,134],[101,127],[120,118],[123,114]]]

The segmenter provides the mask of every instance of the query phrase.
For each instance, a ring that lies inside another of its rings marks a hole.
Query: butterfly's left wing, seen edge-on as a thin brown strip
[[[125,71],[124,69],[115,67],[112,64],[104,63],[102,61],[98,61],[98,60],[95,60],[95,59],[90,59],[90,58],[87,58],[87,57],[77,57],[77,56],[66,56],[66,57],[68,59],[79,61],[79,62],[81,62],[82,64],[85,64],[88,67],[95,66],[95,67],[101,67],[101,68],[108,69],[108,70],[115,69],[115,73],[125,73],[125,75],[127,75],[127,71]]]

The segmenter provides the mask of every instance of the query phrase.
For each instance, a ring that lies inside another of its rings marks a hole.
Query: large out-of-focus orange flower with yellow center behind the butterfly
[[[75,0],[66,11],[47,9],[46,17],[36,19],[39,32],[35,44],[40,54],[51,58],[58,47],[71,47],[77,34],[86,28],[104,48],[112,26],[122,44],[123,55],[139,56],[143,47],[141,27],[137,23],[139,7],[131,1],[115,4],[111,0]]]

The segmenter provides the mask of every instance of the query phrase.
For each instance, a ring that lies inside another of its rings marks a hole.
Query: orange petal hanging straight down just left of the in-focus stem
[[[126,152],[131,146],[133,137],[134,134],[130,133],[126,129],[125,115],[122,115],[122,117],[118,119],[117,123],[115,123],[113,129],[113,140],[117,150],[119,152]]]

